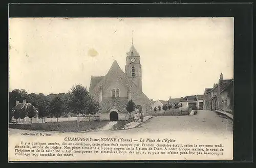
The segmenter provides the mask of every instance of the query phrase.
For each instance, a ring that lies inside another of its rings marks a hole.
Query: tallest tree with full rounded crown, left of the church
[[[78,115],[78,127],[80,127],[80,114],[87,114],[90,106],[91,96],[87,91],[87,88],[80,84],[77,84],[71,88],[69,92],[70,99],[68,107],[72,113]],[[91,102],[93,104],[93,102]],[[91,104],[91,105],[92,105]],[[91,112],[90,112],[91,113]]]

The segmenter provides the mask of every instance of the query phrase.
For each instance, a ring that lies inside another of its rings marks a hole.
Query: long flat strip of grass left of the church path
[[[32,124],[9,124],[9,128],[37,131],[62,131],[62,132],[77,132],[97,129],[108,124],[109,121],[88,121],[78,123],[76,121],[63,121],[54,123],[32,123]]]

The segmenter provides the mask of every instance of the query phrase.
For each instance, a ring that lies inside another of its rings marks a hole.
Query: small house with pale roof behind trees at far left
[[[34,123],[38,122],[38,109],[35,108],[31,103],[27,102],[26,100],[23,100],[23,103],[19,103],[19,101],[16,100],[16,105],[14,107],[12,107],[11,110],[12,110],[12,113],[14,113],[14,111],[18,110],[18,109],[28,110],[30,106],[32,106],[36,112],[34,118],[32,118],[32,122],[34,122]],[[12,120],[15,120],[15,119],[12,118]],[[20,120],[18,122],[20,122]],[[31,122],[31,119],[26,116],[23,119],[23,122]]]

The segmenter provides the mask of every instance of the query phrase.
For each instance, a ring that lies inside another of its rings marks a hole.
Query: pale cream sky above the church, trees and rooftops
[[[9,18],[9,90],[67,93],[90,87],[133,44],[142,91],[167,100],[233,78],[233,18]]]

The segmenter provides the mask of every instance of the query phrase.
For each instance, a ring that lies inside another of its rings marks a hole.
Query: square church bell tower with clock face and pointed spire
[[[142,91],[140,55],[135,49],[133,42],[130,51],[126,54],[125,74]]]

